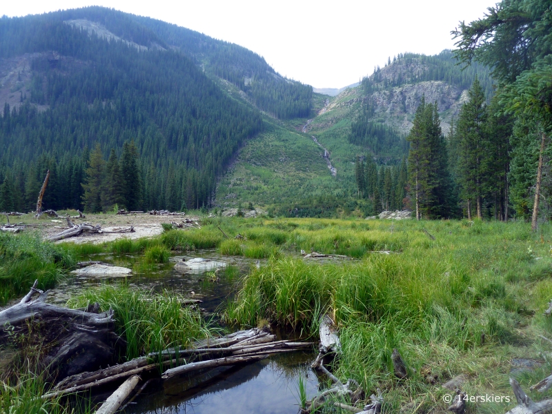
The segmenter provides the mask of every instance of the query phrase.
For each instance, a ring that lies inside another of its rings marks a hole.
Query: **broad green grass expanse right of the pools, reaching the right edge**
[[[549,352],[537,336],[552,337],[552,319],[542,316],[552,299],[549,224],[538,234],[529,224],[482,221],[401,221],[393,233],[384,220],[367,227],[364,221],[315,219],[263,224],[255,231],[288,230],[283,248],[358,252],[361,259],[270,259],[242,279],[226,321],[256,326],[266,319],[315,335],[319,315],[330,313],[342,339],[335,372],[342,380],[354,378],[368,393],[384,390],[386,412],[399,412],[406,403],[413,410],[420,406],[419,412],[446,408],[440,384],[460,373],[469,376],[469,395],[511,395],[510,360],[542,359]],[[369,253],[374,250],[394,253]],[[393,376],[393,348],[408,366],[401,384]],[[529,392],[547,372],[517,379]],[[437,384],[426,380],[430,374],[437,375]],[[552,392],[532,397],[546,395]],[[504,413],[511,406],[471,404],[469,412]]]

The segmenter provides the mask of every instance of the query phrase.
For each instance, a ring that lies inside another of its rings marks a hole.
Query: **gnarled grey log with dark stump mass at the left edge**
[[[12,335],[8,331],[40,337],[41,365],[58,379],[115,362],[126,343],[112,330],[113,311],[91,313],[46,304],[48,292],[37,289],[37,282],[21,302],[0,312],[0,342]],[[34,332],[40,335],[30,335]]]

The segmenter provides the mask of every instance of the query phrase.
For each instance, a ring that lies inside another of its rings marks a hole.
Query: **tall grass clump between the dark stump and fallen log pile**
[[[182,299],[176,293],[133,290],[122,284],[87,290],[68,305],[79,308],[98,302],[102,311],[112,308],[116,331],[128,343],[126,357],[132,359],[210,335],[210,325],[198,311],[184,307]]]

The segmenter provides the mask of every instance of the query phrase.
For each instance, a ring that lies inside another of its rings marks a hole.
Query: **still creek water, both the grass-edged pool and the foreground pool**
[[[203,257],[225,262],[226,272],[218,277],[210,273],[179,273],[174,269],[178,260]],[[197,250],[170,258],[168,264],[142,265],[132,255],[91,255],[98,260],[117,266],[132,268],[132,276],[116,278],[71,277],[52,289],[48,302],[64,304],[67,299],[102,283],[117,283],[123,279],[129,286],[154,291],[170,290],[190,299],[199,299],[201,313],[217,320],[224,302],[231,298],[239,278],[246,275],[257,260],[221,256],[215,250]],[[259,262],[262,266],[263,261]],[[228,270],[232,266],[233,269]],[[229,275],[233,275],[230,277]],[[296,339],[295,333],[276,331],[279,339]],[[172,380],[152,382],[124,413],[132,414],[220,414],[267,413],[296,414],[299,411],[299,378],[304,382],[308,400],[319,391],[317,375],[310,368],[315,358],[313,351],[297,351],[268,357],[259,362],[215,368],[200,375],[176,377]]]

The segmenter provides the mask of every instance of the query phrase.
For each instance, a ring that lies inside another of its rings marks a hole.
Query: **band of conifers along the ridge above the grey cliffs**
[[[386,66],[390,65],[393,65],[395,70],[384,74],[378,66],[374,68],[373,75],[362,79],[361,84],[366,95],[370,95],[375,90],[386,90],[406,83],[423,81],[444,81],[460,90],[466,90],[471,87],[475,77],[480,79],[482,88],[488,96],[493,93],[491,71],[478,63],[466,68],[458,66],[451,50],[444,50],[439,55],[433,56],[402,53],[393,57],[393,61],[388,59]]]

